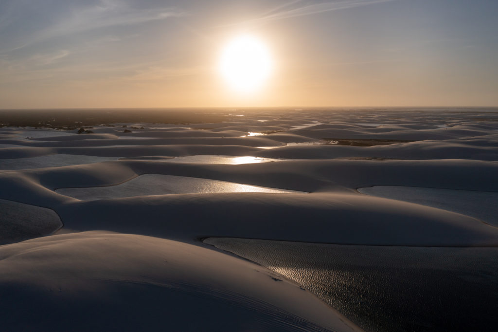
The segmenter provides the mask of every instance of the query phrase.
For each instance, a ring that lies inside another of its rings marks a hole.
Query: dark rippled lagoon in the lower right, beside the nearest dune
[[[366,331],[497,329],[497,248],[205,242],[294,280]]]

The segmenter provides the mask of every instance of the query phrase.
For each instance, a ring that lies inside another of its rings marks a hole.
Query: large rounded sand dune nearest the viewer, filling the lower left
[[[0,268],[8,331],[361,331],[263,267],[154,237],[93,231],[24,241],[0,247]],[[10,310],[16,303],[23,311]]]

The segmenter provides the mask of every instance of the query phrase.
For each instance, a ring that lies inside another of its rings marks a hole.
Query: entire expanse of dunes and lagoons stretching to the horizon
[[[198,112],[0,128],[5,331],[496,331],[498,110]]]

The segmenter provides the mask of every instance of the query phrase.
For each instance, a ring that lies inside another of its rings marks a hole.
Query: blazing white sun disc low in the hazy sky
[[[262,87],[273,67],[266,45],[251,35],[232,39],[222,50],[219,69],[229,86],[251,92]]]

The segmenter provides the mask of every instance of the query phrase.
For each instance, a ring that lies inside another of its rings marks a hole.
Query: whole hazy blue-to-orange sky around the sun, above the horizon
[[[497,0],[1,0],[0,109],[498,106]],[[271,58],[253,91],[231,40]]]

